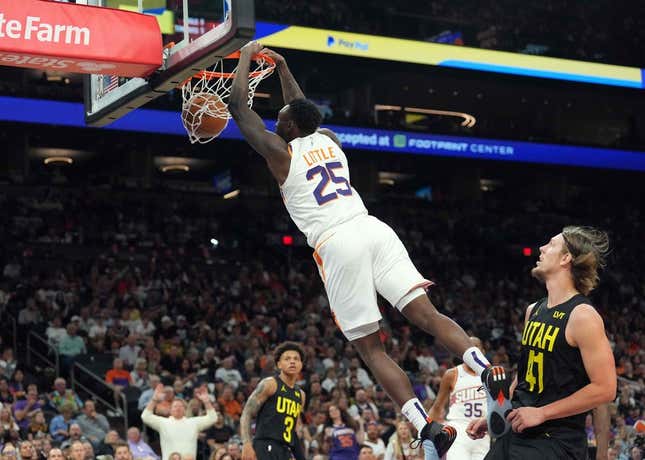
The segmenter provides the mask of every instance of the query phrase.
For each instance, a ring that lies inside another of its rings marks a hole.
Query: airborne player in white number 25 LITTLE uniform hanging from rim
[[[510,381],[502,368],[490,367],[454,321],[437,311],[425,293],[432,283],[416,270],[394,231],[368,215],[350,184],[340,141],[333,132],[319,129],[320,112],[304,98],[282,56],[266,51],[277,60],[287,104],[278,114],[276,133],[267,131],[262,119],[248,107],[250,60],[260,51],[262,46],[257,42],[242,48],[229,111],[247,142],[266,160],[280,185],[287,211],[314,248],[336,324],[376,380],[401,406],[421,440],[433,441],[443,453],[456,432],[428,419],[407,376],[385,353],[379,336],[381,315],[376,293],[453,353],[463,356],[470,368],[482,374],[489,392],[499,397],[500,410],[510,410]]]

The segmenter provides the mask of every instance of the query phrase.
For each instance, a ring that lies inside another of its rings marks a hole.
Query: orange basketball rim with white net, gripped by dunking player
[[[230,68],[230,65],[226,65],[226,61],[230,62],[239,57],[240,52],[236,51],[220,59],[211,70],[202,70],[179,85],[182,95],[181,120],[191,143],[205,144],[219,135],[219,132],[212,135],[205,134],[203,122],[205,124],[212,118],[221,119],[223,129],[231,118],[228,111],[228,97],[231,94],[237,66],[227,71],[226,68]],[[256,55],[253,61],[255,68],[249,72],[249,107],[253,106],[255,89],[275,69],[274,60],[266,54]]]

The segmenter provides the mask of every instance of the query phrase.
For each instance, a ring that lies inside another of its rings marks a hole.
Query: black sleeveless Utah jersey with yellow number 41
[[[514,407],[542,407],[566,398],[589,383],[580,350],[569,345],[565,338],[571,312],[583,303],[591,305],[589,299],[577,294],[552,308],[547,308],[546,298],[533,307],[522,334]],[[566,443],[572,435],[575,439],[574,432],[585,436],[585,415],[549,420],[528,433],[554,438],[560,437],[559,433],[566,438],[563,440]]]

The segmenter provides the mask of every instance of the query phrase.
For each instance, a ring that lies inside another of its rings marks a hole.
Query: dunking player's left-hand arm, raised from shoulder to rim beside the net
[[[289,174],[291,164],[287,143],[266,129],[262,118],[249,108],[247,102],[251,58],[262,51],[262,45],[249,42],[240,51],[240,63],[231,87],[228,110],[244,139],[264,157],[273,176],[282,183]]]

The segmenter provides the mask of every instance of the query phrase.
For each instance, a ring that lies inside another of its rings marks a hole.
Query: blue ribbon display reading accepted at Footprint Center
[[[4,96],[0,96],[0,121],[86,127],[81,103]],[[264,123],[269,130],[275,128],[274,120],[264,120]],[[343,148],[348,150],[645,171],[645,152],[638,151],[350,126],[327,127],[338,135]],[[103,129],[186,136],[179,112],[165,110],[137,109]],[[242,133],[231,122],[219,137],[242,139]]]

